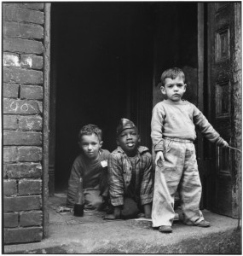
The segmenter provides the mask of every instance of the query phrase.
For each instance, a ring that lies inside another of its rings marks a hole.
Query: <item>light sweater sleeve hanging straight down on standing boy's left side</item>
[[[163,151],[163,121],[165,112],[163,107],[159,108],[158,104],[153,108],[151,120],[151,138],[153,142],[154,151]]]

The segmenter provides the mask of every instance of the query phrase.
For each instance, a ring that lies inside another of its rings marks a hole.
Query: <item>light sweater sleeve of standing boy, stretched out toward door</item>
[[[211,142],[217,146],[223,146],[223,138],[214,130],[204,114],[194,106],[194,124],[199,128],[200,132]]]

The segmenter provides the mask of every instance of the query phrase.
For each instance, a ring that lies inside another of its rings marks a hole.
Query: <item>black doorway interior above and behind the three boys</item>
[[[162,70],[189,67],[196,80],[197,3],[52,3],[51,19],[54,192],[67,189],[83,125],[99,125],[103,148],[113,151],[119,119],[132,119],[142,145],[152,149],[153,94]],[[189,96],[197,97],[196,87]]]

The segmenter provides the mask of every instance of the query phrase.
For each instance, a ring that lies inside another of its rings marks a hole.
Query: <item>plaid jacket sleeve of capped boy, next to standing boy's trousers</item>
[[[142,206],[153,201],[152,155],[148,153],[146,154],[145,158],[145,168],[142,176],[140,198]]]

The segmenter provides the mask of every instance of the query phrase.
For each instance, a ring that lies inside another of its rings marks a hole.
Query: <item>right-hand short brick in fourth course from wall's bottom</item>
[[[36,179],[20,179],[19,195],[40,195],[42,193],[42,181]]]

